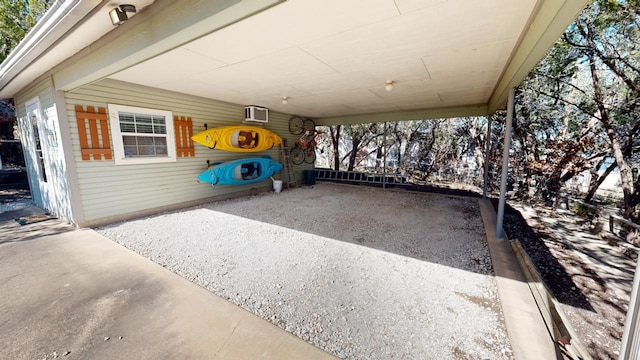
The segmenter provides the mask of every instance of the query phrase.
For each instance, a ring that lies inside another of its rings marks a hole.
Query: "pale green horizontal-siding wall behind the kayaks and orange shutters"
[[[198,183],[196,177],[211,163],[270,155],[279,160],[277,148],[259,153],[234,153],[212,150],[195,144],[194,157],[178,157],[175,162],[116,165],[115,160],[83,160],[75,114],[75,106],[93,106],[107,109],[109,104],[168,110],[174,116],[191,117],[193,133],[209,128],[241,125],[244,105],[217,102],[190,95],[143,87],[130,83],[103,80],[65,93],[73,161],[82,207],[81,226],[93,226],[125,220],[158,211],[180,208],[200,202],[248,194],[253,189],[270,189],[271,180],[255,184],[212,187]],[[263,127],[295,142],[296,136],[288,130],[289,115],[270,112],[269,122]],[[110,129],[111,147],[113,137]],[[298,179],[305,164],[296,168]],[[280,178],[282,174],[277,174]]]

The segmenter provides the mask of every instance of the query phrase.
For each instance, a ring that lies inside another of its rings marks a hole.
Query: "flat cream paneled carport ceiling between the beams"
[[[290,0],[110,77],[313,118],[486,113],[542,3]]]

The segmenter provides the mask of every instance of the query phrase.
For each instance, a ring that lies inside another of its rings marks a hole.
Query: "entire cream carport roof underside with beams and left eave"
[[[0,97],[53,68],[58,90],[111,78],[318,124],[486,115],[588,0],[128,2],[141,11],[119,27],[108,1],[67,23],[45,16],[58,31],[30,33],[2,64]]]

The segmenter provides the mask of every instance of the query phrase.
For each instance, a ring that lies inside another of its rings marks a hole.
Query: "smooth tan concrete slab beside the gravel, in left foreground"
[[[0,213],[4,359],[332,359],[88,229]]]

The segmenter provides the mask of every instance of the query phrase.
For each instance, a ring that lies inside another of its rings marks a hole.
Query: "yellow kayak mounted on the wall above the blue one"
[[[210,149],[234,152],[268,150],[282,142],[278,134],[248,125],[211,128],[193,135],[191,139]]]

